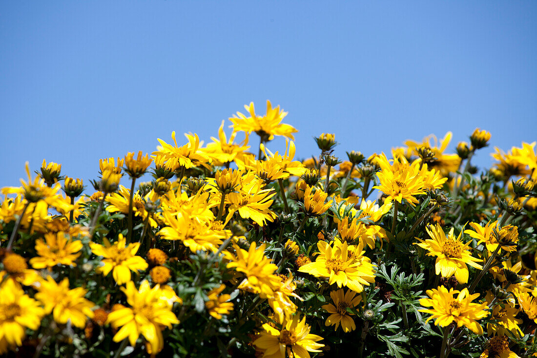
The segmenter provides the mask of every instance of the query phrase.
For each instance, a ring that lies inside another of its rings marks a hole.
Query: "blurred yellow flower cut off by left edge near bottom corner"
[[[0,341],[5,340],[8,346],[20,346],[26,336],[26,328],[37,330],[45,311],[13,280],[5,281],[1,290]]]

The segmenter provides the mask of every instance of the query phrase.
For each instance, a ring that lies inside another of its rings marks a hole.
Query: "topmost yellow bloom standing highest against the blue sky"
[[[295,139],[293,133],[298,131],[291,125],[281,123],[281,120],[287,116],[287,112],[280,111],[280,106],[273,109],[270,101],[267,101],[267,112],[263,117],[257,116],[253,102],[250,102],[250,106],[244,105],[244,108],[250,113],[250,117],[237,112],[237,116],[229,118],[233,123],[234,132],[256,132],[263,141],[273,140],[274,135]]]

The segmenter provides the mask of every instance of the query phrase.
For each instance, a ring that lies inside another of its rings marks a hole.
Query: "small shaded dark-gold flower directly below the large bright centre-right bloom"
[[[362,300],[361,296],[356,296],[356,292],[348,290],[347,293],[343,293],[343,289],[337,291],[331,291],[330,297],[334,304],[323,305],[323,309],[330,314],[330,317],[326,319],[325,326],[336,326],[334,331],[337,331],[337,327],[341,323],[343,332],[351,332],[356,329],[354,320],[350,317],[353,313],[347,312],[347,307],[354,308]]]

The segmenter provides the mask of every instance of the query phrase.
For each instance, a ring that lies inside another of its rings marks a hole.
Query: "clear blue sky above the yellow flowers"
[[[0,187],[43,159],[88,183],[267,99],[300,157],[322,132],[339,155],[475,127],[507,150],[537,140],[536,65],[535,1],[3,1]]]

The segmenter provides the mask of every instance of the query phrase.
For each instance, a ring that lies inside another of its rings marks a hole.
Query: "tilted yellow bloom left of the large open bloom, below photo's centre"
[[[274,275],[278,267],[265,256],[265,247],[266,244],[263,244],[256,248],[256,243],[252,242],[248,251],[234,245],[236,256],[230,252],[224,253],[229,260],[227,268],[246,276],[238,288],[247,288],[264,297],[273,296],[274,290],[281,285],[280,278]]]

